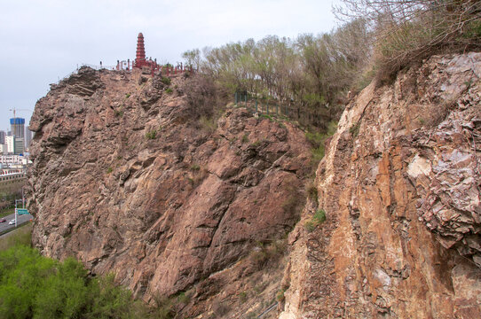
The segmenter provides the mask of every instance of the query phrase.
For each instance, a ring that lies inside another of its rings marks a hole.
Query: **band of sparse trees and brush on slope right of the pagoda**
[[[183,56],[226,91],[291,105],[308,114],[305,126],[326,131],[373,78],[392,81],[434,54],[481,47],[479,1],[343,0],[335,12],[345,23],[329,33],[269,35]]]

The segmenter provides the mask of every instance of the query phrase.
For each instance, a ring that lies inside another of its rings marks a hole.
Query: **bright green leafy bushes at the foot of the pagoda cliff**
[[[73,258],[43,257],[27,245],[0,252],[3,318],[143,318],[145,306],[114,284],[114,276],[88,276]]]

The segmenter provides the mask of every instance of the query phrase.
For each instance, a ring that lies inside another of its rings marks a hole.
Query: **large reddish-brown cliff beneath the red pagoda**
[[[298,221],[310,152],[299,128],[242,108],[199,119],[188,82],[83,68],[52,86],[30,122],[33,241],[147,301],[187,291],[185,316],[226,317],[252,289],[274,298],[281,259],[258,270]]]

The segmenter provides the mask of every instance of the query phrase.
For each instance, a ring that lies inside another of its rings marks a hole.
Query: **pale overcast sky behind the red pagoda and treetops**
[[[187,50],[295,38],[336,26],[338,0],[0,0],[0,130],[9,119],[28,123],[49,84],[82,64],[115,65],[135,58],[137,35],[146,56],[182,61]]]

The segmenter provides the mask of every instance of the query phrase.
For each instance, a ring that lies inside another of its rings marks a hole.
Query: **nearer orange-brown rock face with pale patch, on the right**
[[[481,317],[480,76],[479,53],[433,57],[348,105],[289,235],[281,319]]]

